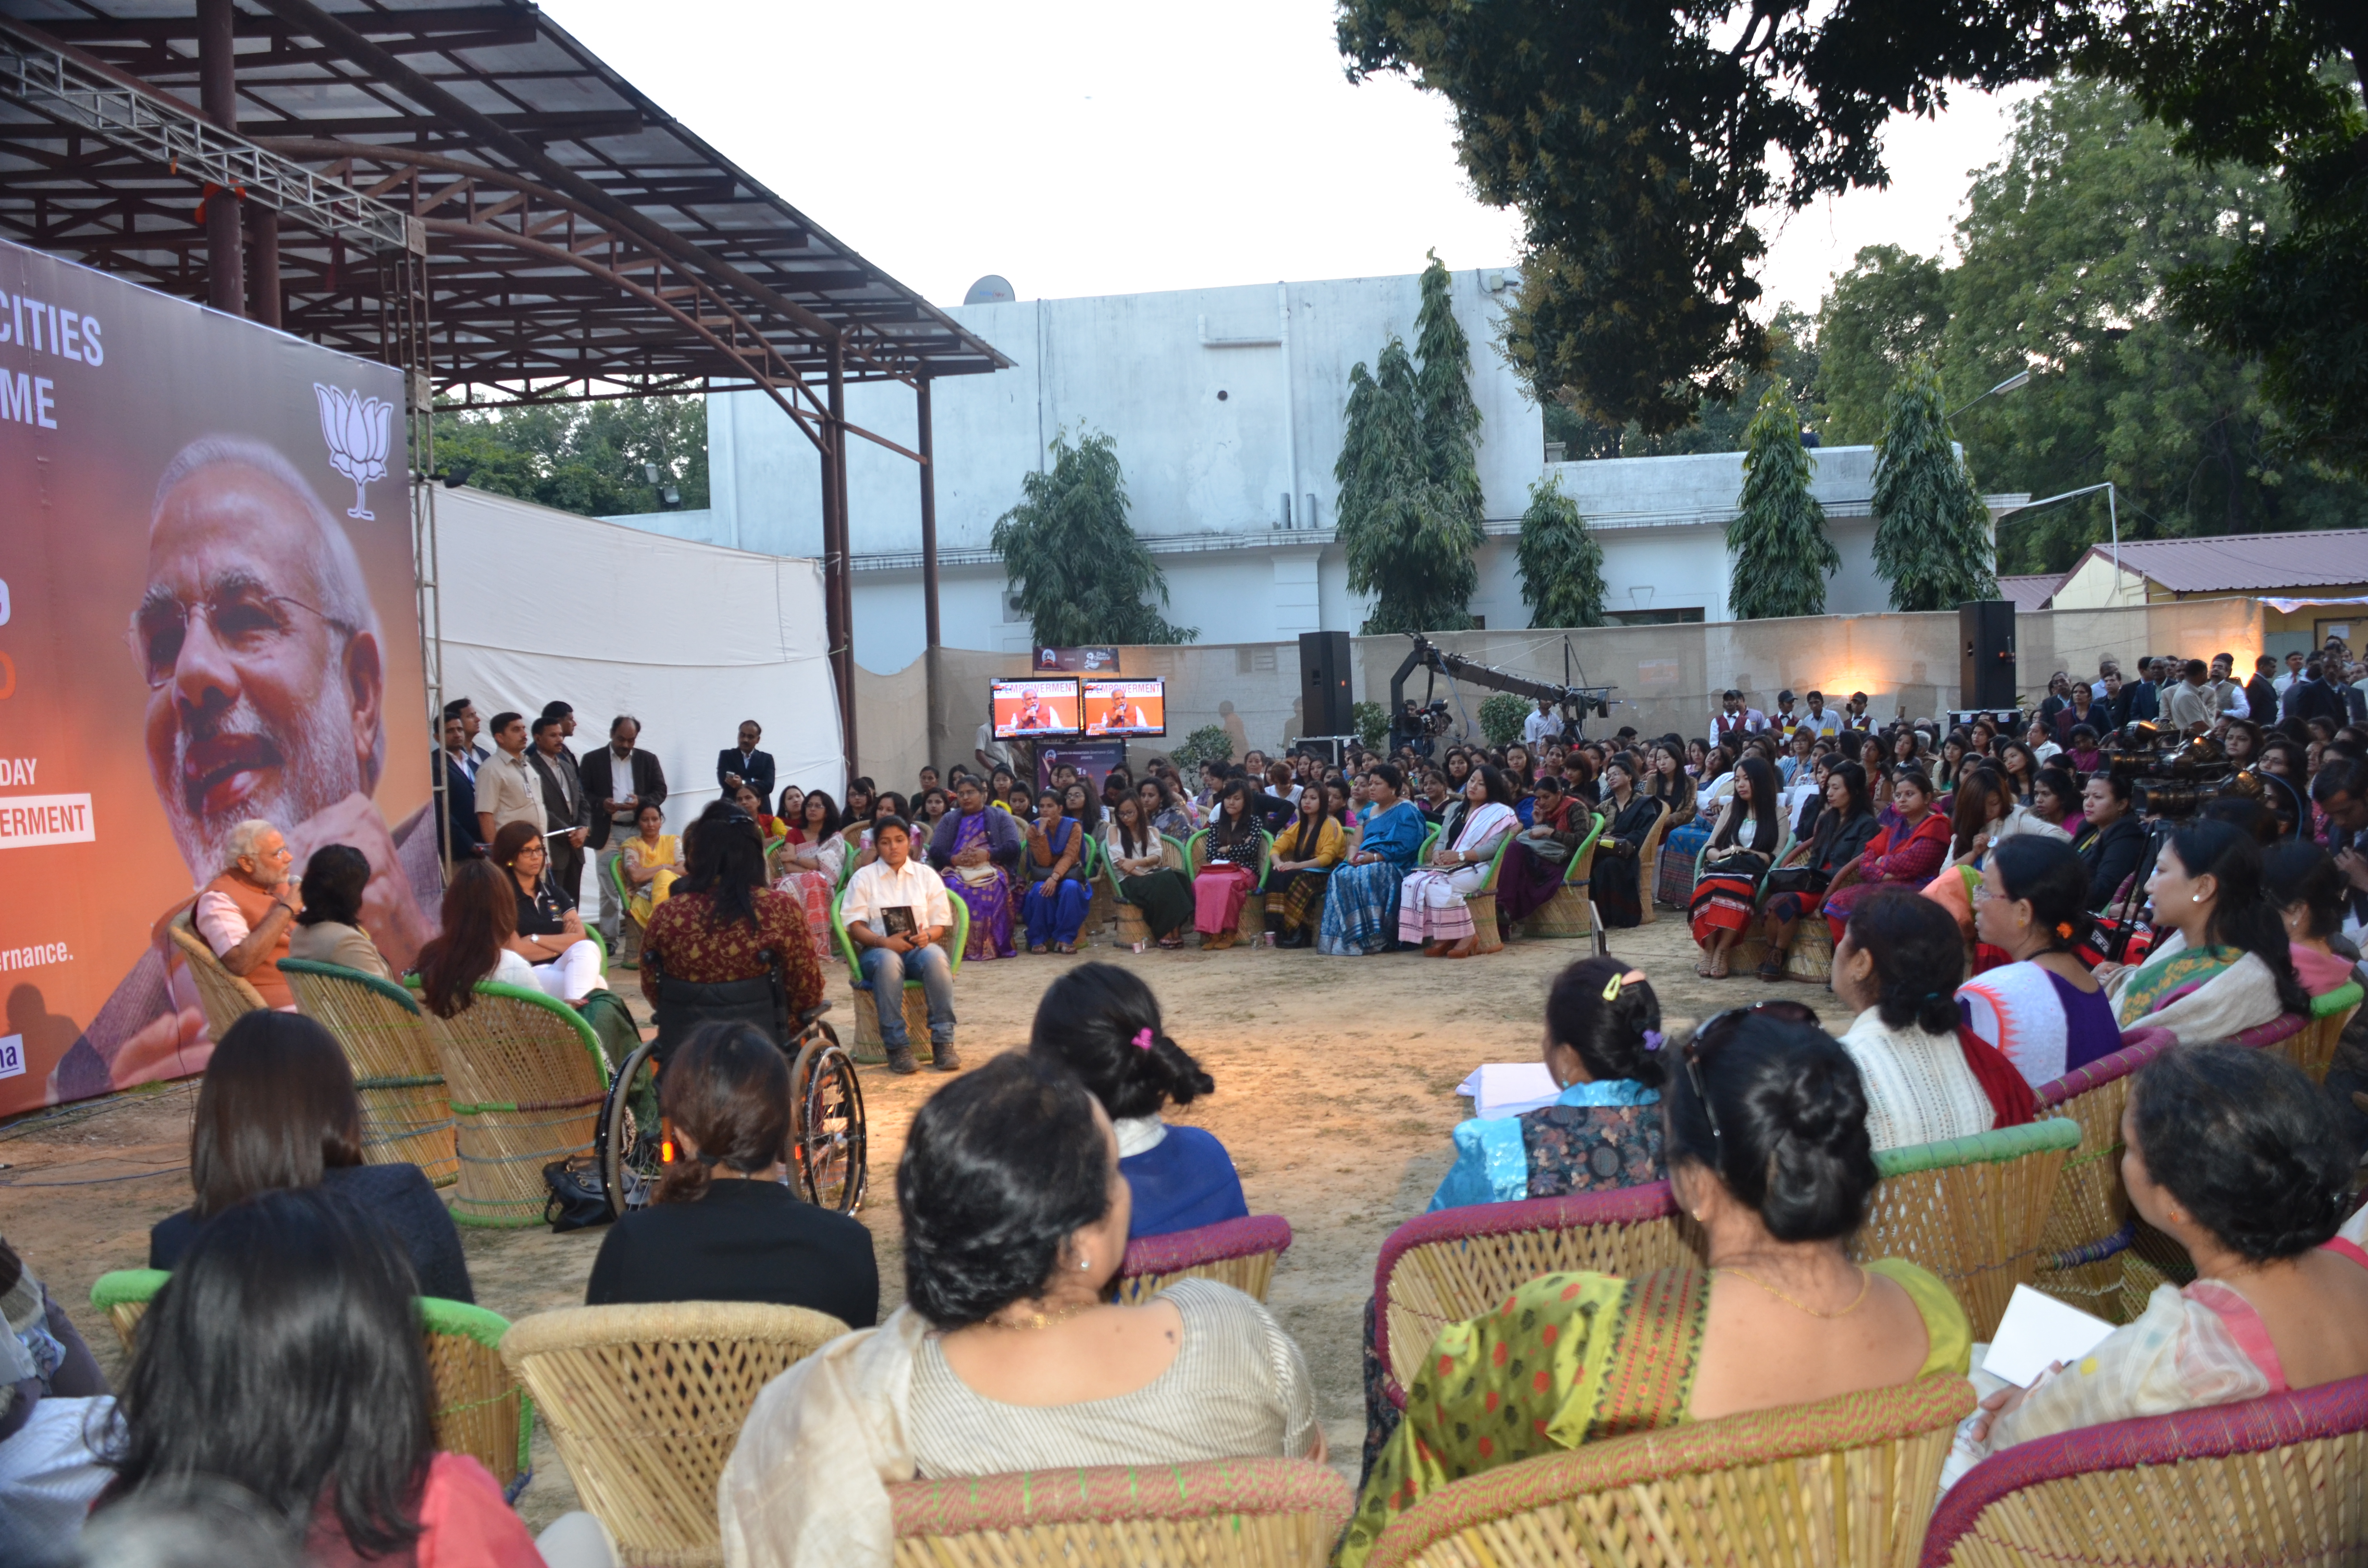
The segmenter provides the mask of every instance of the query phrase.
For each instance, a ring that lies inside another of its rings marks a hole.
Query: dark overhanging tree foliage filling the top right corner
[[[1343,0],[1352,76],[1442,92],[1482,199],[1518,206],[1506,346],[1539,396],[1648,433],[1762,367],[1759,213],[1887,178],[1878,135],[1951,85],[2063,66],[2129,85],[2193,159],[2269,171],[2295,223],[2169,279],[2264,355],[2287,438],[2368,457],[2359,0]]]

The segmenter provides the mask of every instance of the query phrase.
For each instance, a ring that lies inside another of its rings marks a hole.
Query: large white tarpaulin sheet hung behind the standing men
[[[436,493],[443,689],[483,718],[575,708],[575,756],[642,720],[665,827],[715,798],[715,753],[765,727],[781,784],[845,798],[822,564],[670,540],[483,490]],[[485,744],[490,739],[481,737]]]

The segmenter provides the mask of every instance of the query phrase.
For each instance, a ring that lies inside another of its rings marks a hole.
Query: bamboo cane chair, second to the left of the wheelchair
[[[353,1063],[362,1099],[362,1158],[372,1165],[419,1165],[429,1182],[459,1180],[452,1146],[452,1097],[412,992],[360,969],[279,959],[296,1009],[320,1018]]]

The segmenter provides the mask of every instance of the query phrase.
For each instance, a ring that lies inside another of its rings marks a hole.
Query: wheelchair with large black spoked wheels
[[[654,962],[644,957],[644,962]],[[774,1018],[789,1023],[779,969],[774,978]],[[658,976],[663,988],[663,976]],[[852,1215],[864,1201],[864,1087],[855,1059],[838,1045],[838,1033],[822,1021],[829,1002],[796,1016],[796,1030],[774,1028],[781,1054],[789,1056],[789,1163],[791,1182],[817,1208]],[[644,1208],[658,1191],[658,1177],[673,1158],[673,1137],[658,1113],[661,1040],[644,1040],[609,1080],[599,1111],[599,1172],[609,1191],[611,1217]]]

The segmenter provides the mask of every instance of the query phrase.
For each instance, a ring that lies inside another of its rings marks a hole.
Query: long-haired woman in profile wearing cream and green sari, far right
[[[2285,919],[2245,831],[2198,817],[2171,834],[2145,883],[2155,945],[2145,964],[2100,964],[2122,1028],[2167,1028],[2181,1045],[2233,1040],[2278,1014],[2311,1016]]]

